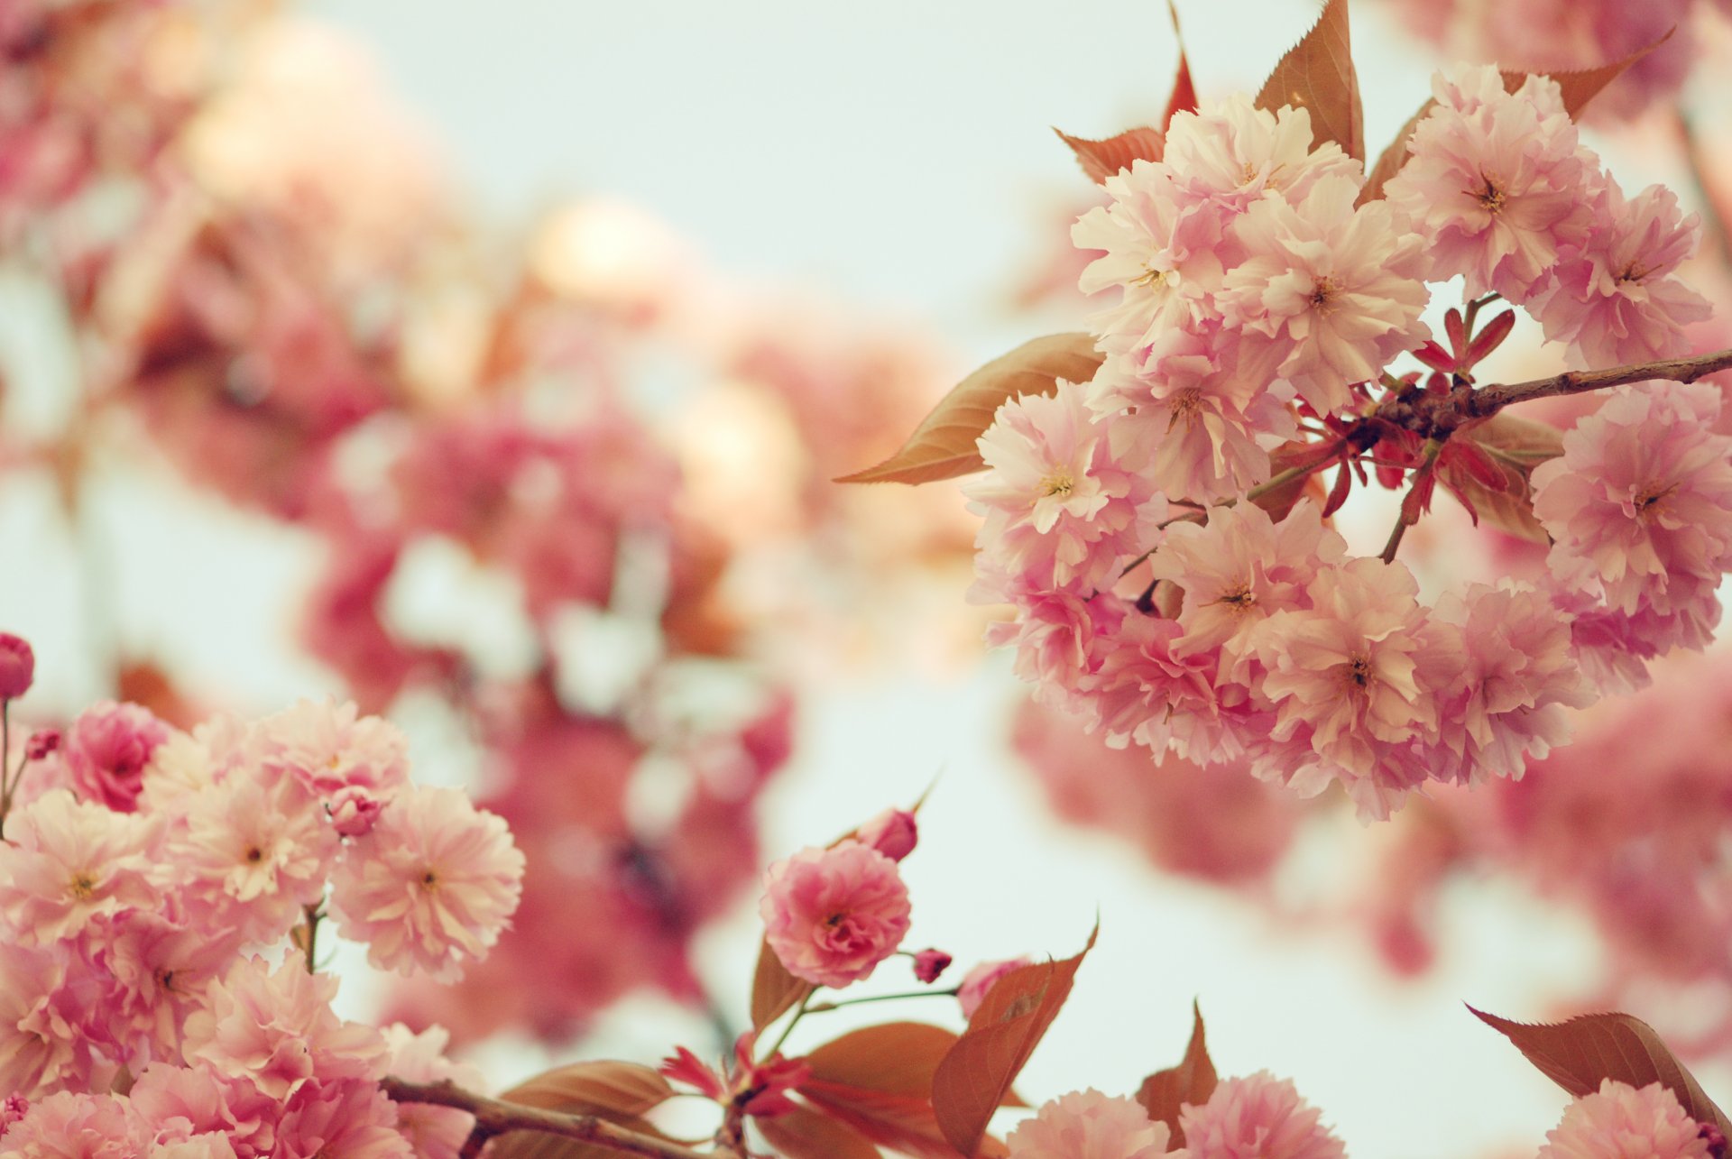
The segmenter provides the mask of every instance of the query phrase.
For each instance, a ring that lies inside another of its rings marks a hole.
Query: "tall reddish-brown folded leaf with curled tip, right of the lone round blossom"
[[[1098,932],[1096,927],[1074,958],[1025,965],[994,982],[968,1019],[968,1029],[944,1055],[932,1076],[932,1107],[944,1138],[956,1150],[973,1154],[992,1110],[1005,1102],[1010,1085],[1070,996],[1077,967]]]

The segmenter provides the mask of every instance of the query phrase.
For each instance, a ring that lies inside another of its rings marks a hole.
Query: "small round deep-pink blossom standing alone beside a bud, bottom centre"
[[[802,849],[764,873],[764,937],[788,974],[842,987],[871,975],[908,934],[908,885],[895,861],[845,840]]]

